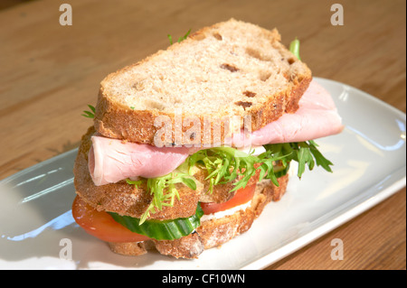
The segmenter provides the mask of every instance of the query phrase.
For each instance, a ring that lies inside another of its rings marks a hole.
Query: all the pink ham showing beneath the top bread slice
[[[254,131],[249,137],[233,135],[232,144],[241,147],[287,142],[302,142],[343,130],[335,103],[325,88],[315,80],[299,101],[295,114],[285,114],[279,120]],[[89,153],[90,175],[95,185],[114,183],[127,178],[153,178],[173,172],[188,155],[199,148],[155,147],[127,143],[99,135],[91,137]]]

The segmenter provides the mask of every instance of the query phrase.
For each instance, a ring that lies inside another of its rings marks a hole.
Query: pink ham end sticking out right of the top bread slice
[[[334,100],[315,80],[311,81],[298,105],[295,114],[285,114],[277,121],[254,131],[249,137],[244,138],[242,132],[233,135],[233,146],[302,142],[336,135],[344,129]]]

